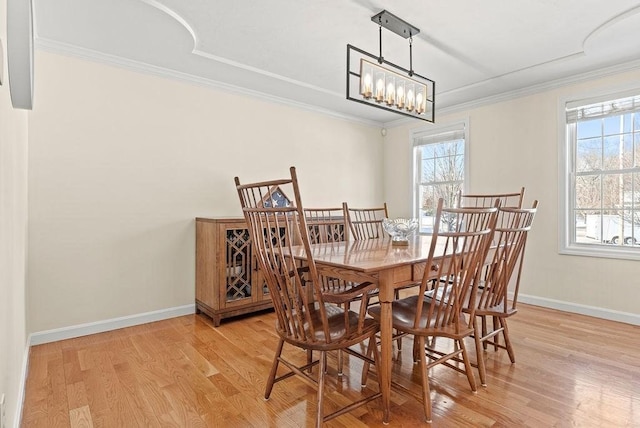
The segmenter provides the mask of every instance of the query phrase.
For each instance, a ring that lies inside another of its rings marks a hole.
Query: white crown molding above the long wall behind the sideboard
[[[72,56],[72,57],[76,57],[76,58],[87,60],[87,61],[98,62],[101,64],[110,65],[110,66],[116,66],[119,68],[127,69],[129,71],[137,72],[137,73],[164,77],[167,79],[186,82],[186,83],[190,83],[198,86],[205,86],[213,89],[222,90],[232,94],[245,95],[253,99],[260,99],[262,101],[294,107],[296,109],[306,110],[313,113],[322,114],[325,116],[331,116],[333,118],[346,120],[348,122],[355,122],[355,123],[359,123],[367,126],[374,126],[374,127],[380,127],[382,125],[382,122],[378,122],[375,120],[363,119],[357,116],[339,113],[327,108],[318,107],[315,105],[311,105],[311,104],[307,104],[299,101],[294,101],[284,97],[278,97],[276,95],[271,95],[271,94],[256,91],[253,89],[247,89],[240,86],[231,85],[231,84],[220,82],[213,79],[207,79],[204,77],[194,76],[192,74],[183,73],[180,71],[158,67],[155,65],[141,62],[141,61],[134,61],[134,60],[122,58],[116,55],[106,54],[106,53],[98,52],[92,49],[86,49],[79,46],[70,45],[67,43],[61,43],[61,42],[56,42],[49,39],[38,38],[36,39],[35,47],[45,52]]]

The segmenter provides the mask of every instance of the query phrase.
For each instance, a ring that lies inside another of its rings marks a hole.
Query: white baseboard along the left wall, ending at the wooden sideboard
[[[28,344],[40,345],[43,343],[72,339],[74,337],[86,336],[89,334],[103,333],[105,331],[117,330],[119,328],[131,327],[134,325],[146,324],[149,322],[189,315],[195,313],[195,311],[195,304],[184,305],[174,308],[161,309],[159,311],[146,312],[143,314],[135,314],[126,317],[112,318],[104,321],[96,321],[87,324],[79,324],[70,327],[40,331],[37,333],[32,333],[30,335]]]

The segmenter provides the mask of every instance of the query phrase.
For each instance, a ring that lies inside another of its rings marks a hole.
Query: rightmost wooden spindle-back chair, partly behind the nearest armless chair
[[[500,207],[488,262],[485,262],[486,272],[480,280],[475,304],[465,309],[465,312],[475,314],[474,338],[480,383],[483,386],[486,385],[483,349],[487,349],[487,344],[493,345],[494,349],[506,349],[511,363],[516,362],[509,340],[507,318],[518,312],[516,304],[524,251],[537,208],[538,201],[534,201],[529,209]],[[512,294],[511,298],[509,294]],[[491,330],[488,330],[488,320],[493,323]],[[502,335],[504,344],[497,340],[499,335]]]

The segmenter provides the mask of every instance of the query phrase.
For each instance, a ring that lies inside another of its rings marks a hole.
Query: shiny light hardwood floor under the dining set
[[[432,371],[431,426],[640,427],[640,327],[519,308],[509,320],[516,363],[504,350],[487,351],[486,388],[474,394],[454,370]],[[190,315],[34,346],[21,426],[311,426],[315,392],[298,379],[277,383],[271,399],[263,399],[277,344],[274,321],[267,312],[214,328],[206,316]],[[418,392],[409,338],[402,348],[395,353],[394,381]],[[345,360],[338,382],[330,357],[327,406],[342,402],[336,388],[349,397],[360,394],[362,363]],[[377,388],[373,375],[368,388]],[[383,426],[379,404],[326,426]],[[421,404],[398,390],[388,426],[429,424]]]

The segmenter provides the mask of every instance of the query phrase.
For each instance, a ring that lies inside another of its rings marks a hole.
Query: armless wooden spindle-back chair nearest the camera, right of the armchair
[[[487,255],[495,227],[497,207],[490,208],[443,208],[438,201],[435,225],[429,256],[420,293],[392,303],[392,325],[400,332],[414,336],[421,350],[417,357],[422,383],[422,403],[427,422],[431,422],[431,390],[429,370],[442,364],[464,373],[472,391],[476,391],[471,362],[464,339],[473,335],[473,318],[466,319],[463,313],[465,302],[473,300],[478,278]],[[440,230],[440,219],[454,218],[454,229]],[[451,254],[446,263],[441,254]],[[425,299],[425,293],[437,298]],[[369,314],[379,320],[380,307],[371,307]],[[453,347],[445,352],[427,346],[427,338],[445,338],[453,341]],[[431,352],[433,351],[433,352]],[[450,364],[452,359],[462,360],[463,368]],[[369,366],[365,364],[362,381],[366,382]],[[433,373],[433,371],[431,371]],[[401,385],[397,385],[403,388]],[[411,390],[407,392],[413,394]]]

